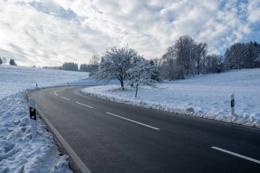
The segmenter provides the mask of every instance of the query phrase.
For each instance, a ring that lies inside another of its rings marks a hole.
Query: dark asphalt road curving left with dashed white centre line
[[[91,172],[260,172],[260,130],[98,100],[29,94]]]

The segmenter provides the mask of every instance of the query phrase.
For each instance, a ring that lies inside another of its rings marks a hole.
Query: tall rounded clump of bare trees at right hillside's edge
[[[161,72],[167,79],[185,79],[205,68],[207,43],[197,43],[191,36],[181,36],[161,58]]]

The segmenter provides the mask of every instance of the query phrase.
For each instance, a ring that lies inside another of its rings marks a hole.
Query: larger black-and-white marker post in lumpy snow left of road
[[[34,98],[29,98],[29,111],[31,119],[31,138],[36,137],[37,135],[37,124],[36,124],[36,108]]]

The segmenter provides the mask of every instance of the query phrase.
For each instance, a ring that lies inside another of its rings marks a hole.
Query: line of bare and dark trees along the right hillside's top
[[[155,59],[160,78],[185,79],[200,73],[220,73],[230,69],[260,67],[260,45],[257,42],[235,43],[223,55],[207,54],[207,43],[181,36],[168,47],[161,58]]]

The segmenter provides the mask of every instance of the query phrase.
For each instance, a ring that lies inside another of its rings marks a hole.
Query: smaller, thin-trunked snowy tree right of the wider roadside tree
[[[139,58],[135,65],[127,73],[129,74],[129,84],[135,87],[135,97],[138,95],[138,87],[149,86],[156,87],[156,81],[152,79],[157,71],[155,65]]]

